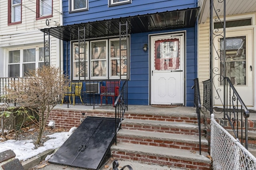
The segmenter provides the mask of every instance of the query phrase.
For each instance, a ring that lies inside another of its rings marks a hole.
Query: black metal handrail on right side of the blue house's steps
[[[199,132],[199,153],[201,154],[201,98],[199,90],[198,78],[194,79],[194,107],[196,107],[197,121],[198,121],[198,132]]]

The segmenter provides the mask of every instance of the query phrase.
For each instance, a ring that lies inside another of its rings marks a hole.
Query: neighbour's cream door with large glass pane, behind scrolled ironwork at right
[[[216,90],[214,90],[214,105],[222,105],[220,100],[224,96],[223,81],[220,81],[220,75],[223,76],[222,37],[214,39],[214,46],[219,49],[218,53],[215,52],[214,54],[214,85],[218,91],[217,94]],[[222,61],[218,59],[218,56],[220,56]],[[253,69],[253,29],[227,31],[226,75],[230,78],[247,107],[254,105]]]

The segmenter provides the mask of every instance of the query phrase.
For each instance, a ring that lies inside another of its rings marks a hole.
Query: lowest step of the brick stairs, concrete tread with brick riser
[[[171,149],[118,143],[111,147],[112,157],[133,161],[160,164],[171,167],[187,168],[194,170],[210,170],[211,161],[206,157],[208,153],[184,149]]]

